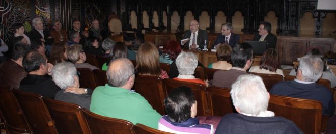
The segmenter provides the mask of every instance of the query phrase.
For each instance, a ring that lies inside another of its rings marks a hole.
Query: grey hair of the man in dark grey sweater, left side
[[[58,63],[52,69],[52,79],[62,90],[74,86],[75,76],[78,77],[76,67],[70,62]]]

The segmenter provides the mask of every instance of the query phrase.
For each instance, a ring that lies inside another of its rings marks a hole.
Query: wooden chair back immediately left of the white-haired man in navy
[[[230,97],[230,89],[219,87],[207,88],[208,107],[212,116],[225,116],[237,113]]]

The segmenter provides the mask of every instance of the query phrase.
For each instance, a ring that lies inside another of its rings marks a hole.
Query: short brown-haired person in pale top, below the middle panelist
[[[218,62],[210,63],[208,68],[230,70],[232,65],[229,63],[232,48],[228,44],[218,44],[216,56]]]

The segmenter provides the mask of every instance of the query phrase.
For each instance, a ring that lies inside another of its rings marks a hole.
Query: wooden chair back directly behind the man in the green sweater
[[[126,120],[109,118],[83,109],[91,133],[133,133],[133,124]]]

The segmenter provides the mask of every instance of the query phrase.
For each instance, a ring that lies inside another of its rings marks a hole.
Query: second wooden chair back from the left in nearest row
[[[47,106],[39,94],[13,90],[33,133],[57,133]]]

